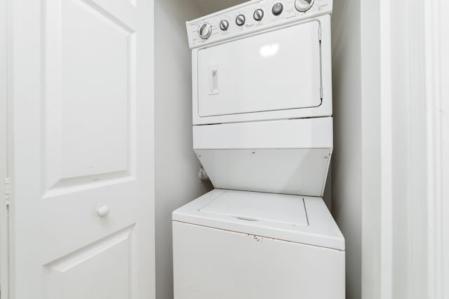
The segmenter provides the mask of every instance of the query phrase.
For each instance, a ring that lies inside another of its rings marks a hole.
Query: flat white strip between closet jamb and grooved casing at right
[[[424,5],[391,3],[392,298],[428,298]]]

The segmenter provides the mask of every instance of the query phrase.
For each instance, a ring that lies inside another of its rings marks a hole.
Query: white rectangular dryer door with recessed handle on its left
[[[321,105],[319,21],[198,51],[200,117]]]

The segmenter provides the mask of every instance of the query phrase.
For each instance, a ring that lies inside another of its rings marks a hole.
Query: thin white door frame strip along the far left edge
[[[9,135],[9,118],[10,105],[8,105],[8,94],[11,80],[9,79],[9,71],[11,69],[11,60],[8,43],[10,40],[9,26],[10,24],[10,2],[8,0],[0,0],[0,83],[4,86],[0,90],[0,286],[1,299],[9,298],[9,236],[8,236],[8,206],[6,204],[6,193],[10,193],[9,186],[6,186],[6,178],[10,176],[10,159],[8,150],[10,144],[8,142]],[[11,183],[9,183],[11,185]],[[8,191],[6,190],[8,188]]]

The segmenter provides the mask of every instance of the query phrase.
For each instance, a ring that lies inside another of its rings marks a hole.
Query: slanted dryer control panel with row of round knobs
[[[190,48],[330,14],[333,0],[253,0],[187,22]]]

